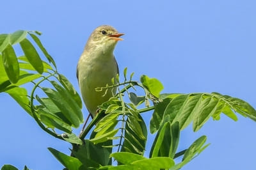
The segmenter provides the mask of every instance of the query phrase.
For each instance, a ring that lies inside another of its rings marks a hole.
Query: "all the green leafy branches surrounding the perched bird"
[[[209,145],[205,144],[206,136],[202,136],[188,149],[177,151],[180,130],[190,123],[197,131],[211,117],[220,120],[221,113],[234,121],[235,113],[256,120],[255,109],[239,98],[220,93],[161,94],[163,85],[157,79],[142,75],[140,82],[133,81],[134,73],[128,76],[125,68],[124,82],[116,75],[117,84],[113,81],[95,89],[117,88],[118,93],[99,105],[99,114],[81,134],[74,134],[72,128],[84,121],[81,98],[68,79],[58,73],[38,35],[38,31],[0,35],[0,93],[8,93],[42,130],[72,144],[70,156],[49,148],[67,169],[180,169]],[[21,55],[15,50],[18,44]],[[33,86],[31,91],[22,86],[28,83]],[[139,90],[143,96],[138,96]],[[148,111],[154,111],[149,127],[141,116]],[[156,137],[145,158],[148,132],[156,133]],[[182,160],[177,162],[177,157]],[[2,169],[16,168],[4,165]]]

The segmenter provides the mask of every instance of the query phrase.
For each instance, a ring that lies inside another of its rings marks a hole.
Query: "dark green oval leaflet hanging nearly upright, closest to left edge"
[[[3,50],[3,63],[4,70],[7,73],[11,82],[16,83],[19,81],[20,70],[19,63],[11,45],[7,45]]]

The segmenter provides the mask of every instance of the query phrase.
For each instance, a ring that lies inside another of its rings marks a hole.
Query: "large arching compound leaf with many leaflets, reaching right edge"
[[[197,131],[211,116],[214,120],[220,120],[221,112],[235,121],[237,117],[234,112],[256,121],[255,109],[239,98],[220,95],[218,93],[191,93],[188,95],[177,93],[168,94],[165,97],[170,97],[170,103],[165,109],[163,105],[163,116],[161,114],[163,109],[158,114],[156,105],[156,114],[154,112],[150,121],[150,132],[156,132],[166,118],[170,122],[179,121],[180,129],[184,129],[193,121],[193,130]]]

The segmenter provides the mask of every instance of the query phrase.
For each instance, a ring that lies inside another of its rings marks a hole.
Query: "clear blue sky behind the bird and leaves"
[[[116,45],[120,70],[156,77],[164,93],[217,91],[256,107],[256,1],[3,1],[0,33],[42,31],[42,43],[78,90],[76,65],[90,33],[109,24],[125,33]],[[69,154],[11,97],[1,93],[0,166],[62,169],[47,147]],[[86,110],[83,110],[87,114]],[[147,120],[150,114],[144,114]],[[181,134],[180,150],[200,135],[211,145],[184,169],[255,169],[255,122],[222,115]]]

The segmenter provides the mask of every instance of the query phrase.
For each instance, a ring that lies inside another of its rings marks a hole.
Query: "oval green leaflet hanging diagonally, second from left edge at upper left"
[[[31,63],[38,73],[42,74],[44,72],[44,65],[32,43],[25,38],[20,42],[20,47],[22,48],[29,63]]]

